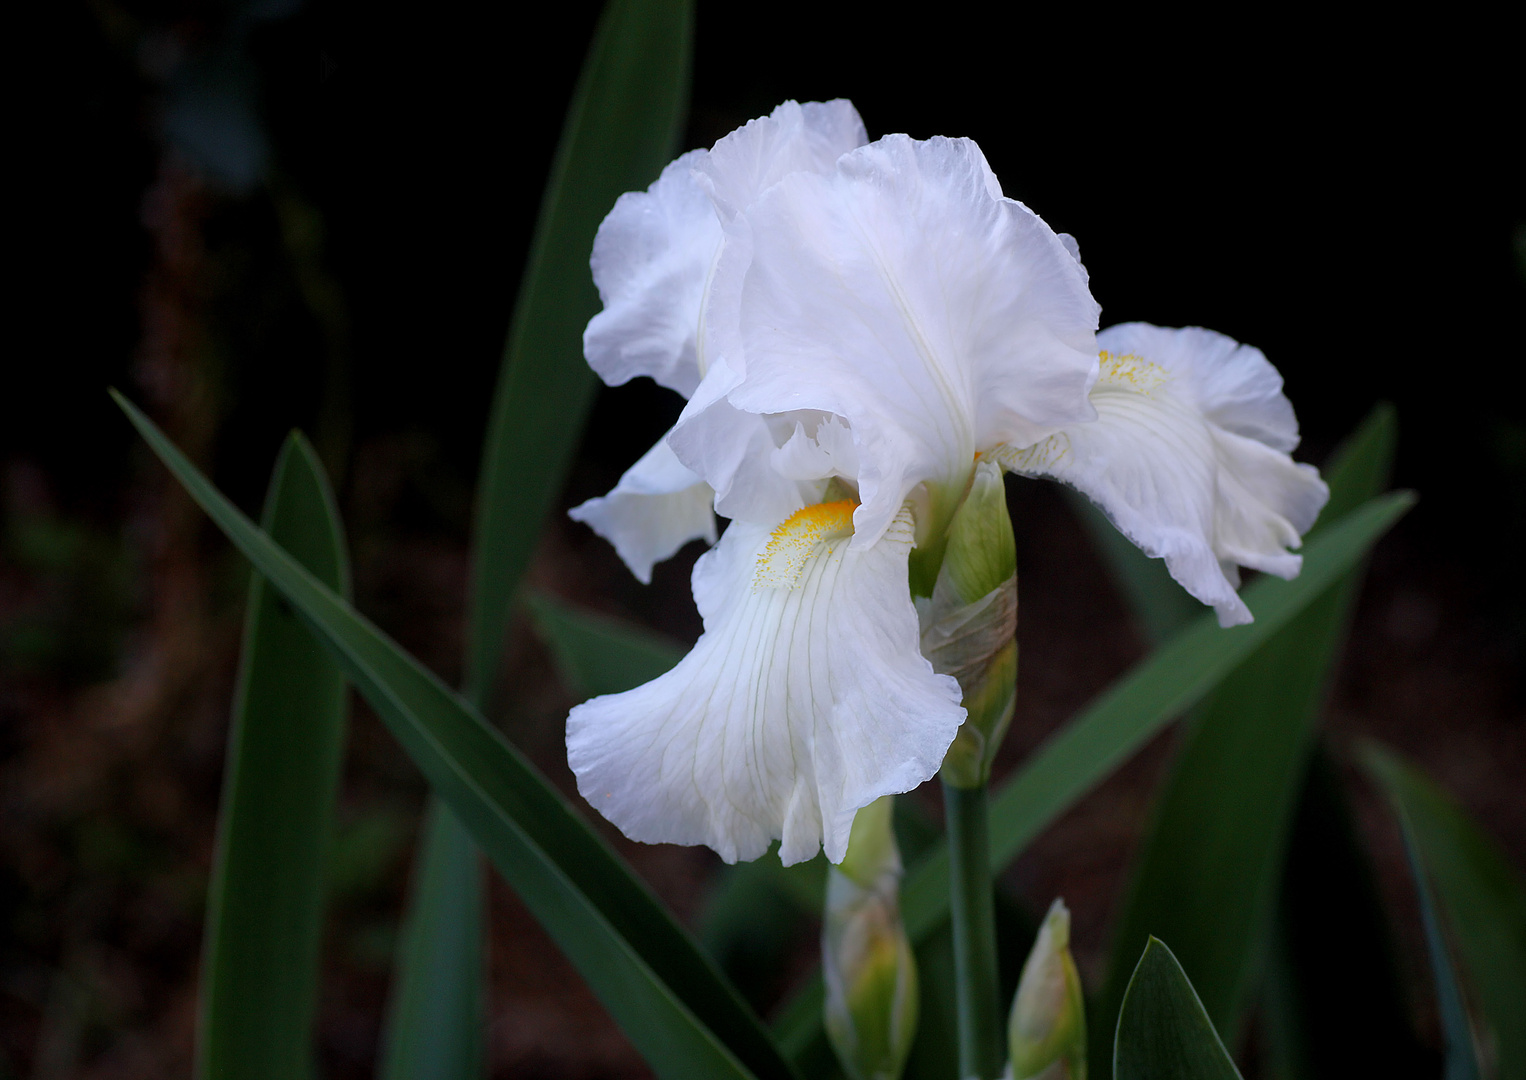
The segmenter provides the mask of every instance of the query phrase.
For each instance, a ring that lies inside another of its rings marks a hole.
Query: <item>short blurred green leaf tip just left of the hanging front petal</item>
[[[650,630],[545,593],[531,593],[525,604],[540,639],[551,647],[562,680],[583,697],[618,694],[652,682],[687,651]]]

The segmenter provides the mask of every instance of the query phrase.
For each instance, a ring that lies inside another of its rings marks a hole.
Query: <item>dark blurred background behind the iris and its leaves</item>
[[[189,1051],[247,577],[104,387],[143,401],[250,509],[284,433],[311,432],[359,606],[455,679],[487,403],[597,11],[95,0],[38,6],[15,31],[0,1077],[162,1075]],[[1378,26],[932,5],[906,18],[702,0],[684,146],[784,98],[848,96],[871,137],[971,136],[1010,195],[1077,236],[1103,325],[1196,323],[1264,348],[1303,459],[1393,401],[1396,481],[1422,499],[1373,560],[1332,731],[1401,744],[1520,860],[1517,59],[1505,27],[1460,14]],[[565,505],[612,485],[678,404],[650,384],[603,392]],[[1018,485],[1013,508],[1016,754],[1143,641],[1053,491]],[[691,638],[694,555],[644,590],[559,519],[531,577]],[[508,671],[501,717],[565,781],[571,699],[523,627]],[[421,799],[363,708],[353,746],[320,1025],[333,1075],[369,1071]],[[1039,909],[1073,898],[1090,976],[1166,755],[1169,740],[1015,871]],[[1381,815],[1363,815],[1401,882]],[[696,915],[708,856],[632,857]],[[496,1071],[639,1074],[502,886],[493,912]]]

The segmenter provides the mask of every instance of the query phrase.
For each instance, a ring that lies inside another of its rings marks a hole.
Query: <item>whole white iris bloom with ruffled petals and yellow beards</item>
[[[967,139],[865,143],[847,102],[787,102],[621,197],[594,275],[589,363],[690,403],[572,516],[642,580],[732,519],[693,651],[568,718],[578,790],[638,841],[841,862],[858,808],[937,772],[964,709],[908,574],[931,590],[981,458],[1087,491],[1224,621],[1235,564],[1296,574],[1325,499],[1265,358],[1099,340],[1074,241]]]

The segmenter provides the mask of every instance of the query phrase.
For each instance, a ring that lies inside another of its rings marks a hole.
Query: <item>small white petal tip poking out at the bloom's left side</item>
[[[690,540],[716,543],[713,500],[714,491],[673,455],[664,435],[609,494],[574,506],[568,517],[609,540],[641,584],[652,584],[652,566]]]

